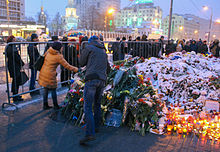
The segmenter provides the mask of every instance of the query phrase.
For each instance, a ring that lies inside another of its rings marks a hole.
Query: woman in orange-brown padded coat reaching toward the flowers
[[[56,69],[61,64],[64,68],[69,71],[78,72],[78,68],[71,66],[62,55],[63,45],[60,42],[54,42],[52,47],[50,47],[45,53],[44,64],[40,70],[39,74],[39,84],[44,87],[43,95],[43,109],[50,109],[48,105],[48,92],[51,91],[54,109],[59,109],[57,102],[57,79],[56,79]]]

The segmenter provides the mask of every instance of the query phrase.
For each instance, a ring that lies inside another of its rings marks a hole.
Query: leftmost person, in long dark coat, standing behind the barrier
[[[15,42],[15,37],[13,35],[9,36],[7,39],[7,43],[10,42]],[[19,85],[21,83],[21,68],[24,66],[24,62],[18,53],[18,49],[13,44],[9,44],[6,47],[6,56],[8,58],[8,71],[12,78],[11,92],[13,95],[16,95],[18,94]],[[23,101],[23,99],[21,96],[17,96],[13,98],[13,101]]]

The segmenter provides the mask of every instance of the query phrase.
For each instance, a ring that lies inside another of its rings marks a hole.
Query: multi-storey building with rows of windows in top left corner
[[[0,0],[0,21],[8,21],[7,14],[9,21],[25,20],[25,0]]]

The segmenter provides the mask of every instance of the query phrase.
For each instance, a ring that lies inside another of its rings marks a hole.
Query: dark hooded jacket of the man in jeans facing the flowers
[[[105,47],[97,41],[90,42],[81,51],[79,63],[86,66],[85,81],[99,79],[106,81],[109,71],[108,56]]]

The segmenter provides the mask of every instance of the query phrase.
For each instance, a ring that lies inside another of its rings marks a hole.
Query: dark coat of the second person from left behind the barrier
[[[27,49],[28,49],[28,55],[29,55],[29,59],[30,59],[29,68],[33,69],[34,68],[33,65],[37,61],[37,59],[39,58],[40,54],[38,52],[36,44],[29,44]]]

